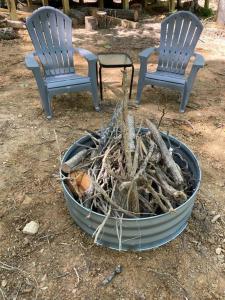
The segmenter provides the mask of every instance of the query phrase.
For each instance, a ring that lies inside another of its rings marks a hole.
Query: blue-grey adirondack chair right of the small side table
[[[180,112],[185,111],[197,72],[204,66],[204,58],[194,52],[202,29],[202,23],[191,12],[174,13],[162,22],[160,46],[145,49],[139,54],[137,104],[140,104],[143,87],[150,84],[179,90],[182,95]],[[148,72],[148,58],[154,52],[158,54],[158,67],[155,72]],[[186,75],[192,56],[195,60]]]

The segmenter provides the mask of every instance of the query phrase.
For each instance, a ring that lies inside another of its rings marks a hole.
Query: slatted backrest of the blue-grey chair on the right
[[[177,12],[161,24],[159,71],[184,74],[203,26],[190,12]]]

